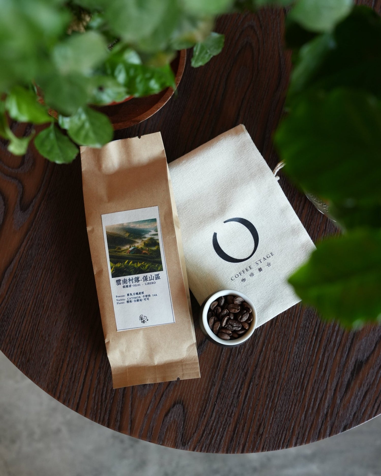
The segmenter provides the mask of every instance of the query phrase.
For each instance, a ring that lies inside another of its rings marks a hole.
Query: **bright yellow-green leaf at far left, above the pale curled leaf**
[[[37,102],[36,94],[21,86],[11,89],[5,100],[5,107],[10,117],[19,122],[43,124],[53,120],[46,108]]]

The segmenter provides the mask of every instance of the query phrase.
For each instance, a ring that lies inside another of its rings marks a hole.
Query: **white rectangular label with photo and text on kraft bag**
[[[159,207],[102,215],[117,330],[175,322]]]

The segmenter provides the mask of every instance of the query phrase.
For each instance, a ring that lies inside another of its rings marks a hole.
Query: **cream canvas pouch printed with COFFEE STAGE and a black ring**
[[[287,278],[314,245],[243,125],[169,164],[191,291],[234,289],[261,325],[300,301]]]

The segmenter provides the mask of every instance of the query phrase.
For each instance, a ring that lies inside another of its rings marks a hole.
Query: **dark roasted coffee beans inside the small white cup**
[[[208,311],[209,327],[223,340],[246,334],[252,320],[251,306],[240,296],[221,296],[211,303]]]

